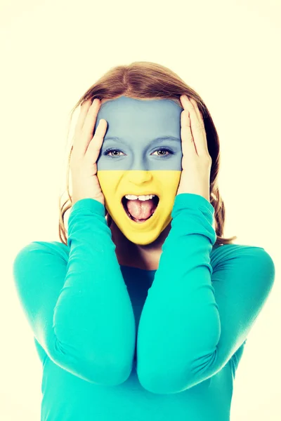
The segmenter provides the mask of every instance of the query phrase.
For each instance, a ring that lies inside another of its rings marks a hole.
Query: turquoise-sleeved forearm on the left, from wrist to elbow
[[[102,378],[112,370],[128,372],[136,326],[101,203],[84,199],[74,204],[67,245],[67,275],[53,319],[61,352],[92,365],[97,381],[98,373]]]

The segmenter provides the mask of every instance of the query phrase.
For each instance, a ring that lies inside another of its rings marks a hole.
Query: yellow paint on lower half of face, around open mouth
[[[146,171],[98,171],[97,175],[105,196],[105,208],[124,236],[141,246],[155,241],[171,222],[181,171],[149,171],[149,174]],[[132,178],[135,183],[138,182],[138,189],[131,187]],[[150,178],[147,187],[141,187],[144,178]],[[159,203],[155,213],[145,222],[134,222],[122,204],[126,194],[156,194]]]

